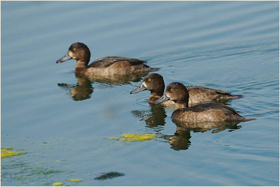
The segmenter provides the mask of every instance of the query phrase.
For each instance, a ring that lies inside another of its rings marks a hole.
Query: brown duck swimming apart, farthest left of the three
[[[126,57],[107,56],[95,60],[88,65],[90,60],[90,50],[80,42],[73,43],[67,53],[56,63],[62,63],[69,59],[77,60],[74,73],[86,76],[91,75],[114,75],[114,74],[131,74],[136,72],[151,72],[158,68],[147,66],[146,61],[131,59]]]

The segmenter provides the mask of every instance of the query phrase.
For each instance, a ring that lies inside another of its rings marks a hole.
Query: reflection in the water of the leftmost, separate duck
[[[98,83],[98,87],[111,88],[115,85],[127,85],[132,82],[139,82],[142,77],[146,76],[148,72],[138,72],[128,75],[92,75],[84,76],[75,74],[77,78],[76,84],[58,83],[58,86],[64,90],[67,90],[67,95],[74,101],[82,101],[91,98],[93,92],[93,83]]]

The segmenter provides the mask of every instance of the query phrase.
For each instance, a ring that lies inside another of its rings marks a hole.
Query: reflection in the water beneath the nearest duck
[[[168,143],[171,145],[171,149],[173,150],[187,150],[191,145],[191,135],[190,132],[206,132],[208,130],[212,130],[212,133],[218,133],[226,129],[230,129],[230,131],[240,129],[241,126],[237,126],[239,122],[202,122],[202,123],[194,123],[194,122],[182,122],[172,120],[173,123],[176,124],[176,133],[174,135],[168,136],[163,135],[162,138],[166,139]]]

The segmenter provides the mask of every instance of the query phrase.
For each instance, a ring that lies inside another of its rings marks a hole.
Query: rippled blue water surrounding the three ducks
[[[1,28],[1,147],[27,152],[1,158],[2,186],[279,185],[279,2],[2,1]],[[138,58],[166,85],[242,94],[227,104],[257,120],[180,127],[148,91],[129,94],[145,74],[56,64],[74,42],[90,62]],[[107,139],[124,133],[157,138]],[[125,175],[94,179],[111,171]]]

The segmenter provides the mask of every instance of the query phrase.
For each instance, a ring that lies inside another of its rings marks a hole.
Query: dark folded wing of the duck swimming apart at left
[[[131,58],[117,57],[117,56],[107,56],[104,58],[96,59],[88,67],[104,68],[104,67],[111,66],[115,62],[121,62],[121,61],[129,62],[131,65],[138,65],[138,64],[146,63],[146,61],[139,60],[139,59],[131,59]]]

